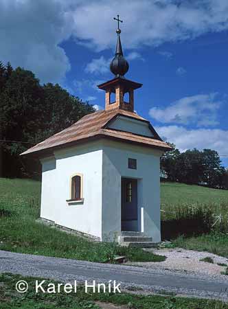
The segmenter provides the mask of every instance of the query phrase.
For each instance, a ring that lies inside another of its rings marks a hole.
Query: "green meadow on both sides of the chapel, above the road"
[[[116,254],[126,255],[131,261],[164,259],[140,249],[89,242],[41,225],[35,221],[40,211],[40,195],[38,181],[0,179],[1,249],[95,262],[113,260]],[[228,191],[161,183],[161,209],[166,211],[161,213],[163,238],[170,236],[174,246],[228,257]],[[221,224],[218,215],[221,215]],[[210,229],[214,222],[216,225]],[[190,227],[188,237],[177,237],[178,233],[185,234],[187,227]]]

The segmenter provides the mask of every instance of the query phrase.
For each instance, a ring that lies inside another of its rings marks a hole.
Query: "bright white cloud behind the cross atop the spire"
[[[124,19],[122,38],[128,49],[181,41],[228,28],[227,0],[132,0],[130,10],[128,0],[90,0],[80,3],[73,12],[78,42],[97,50],[113,47],[117,25],[111,21],[116,8]]]

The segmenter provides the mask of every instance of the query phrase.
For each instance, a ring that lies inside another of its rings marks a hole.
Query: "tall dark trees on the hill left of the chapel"
[[[0,176],[38,176],[38,160],[19,154],[93,111],[59,84],[41,85],[32,71],[0,62]]]

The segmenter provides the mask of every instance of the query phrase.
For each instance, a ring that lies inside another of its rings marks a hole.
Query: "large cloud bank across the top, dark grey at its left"
[[[116,8],[124,16],[124,49],[158,46],[228,29],[227,0],[1,0],[0,59],[60,82],[70,69],[61,43],[113,48]],[[102,19],[101,19],[102,16]]]

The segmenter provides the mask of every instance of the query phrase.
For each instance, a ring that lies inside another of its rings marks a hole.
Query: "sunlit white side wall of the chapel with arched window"
[[[102,236],[102,149],[99,142],[55,152],[56,168],[43,161],[41,217],[58,225]],[[54,159],[52,159],[54,160]],[[46,170],[45,170],[46,169]],[[69,205],[70,176],[83,174],[84,202]]]

